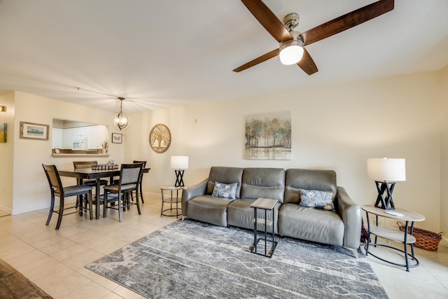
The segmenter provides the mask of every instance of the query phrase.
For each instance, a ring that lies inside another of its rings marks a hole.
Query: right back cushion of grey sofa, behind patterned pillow
[[[336,172],[321,169],[288,169],[286,170],[284,202],[299,204],[300,189],[331,192],[332,201],[337,194]]]

